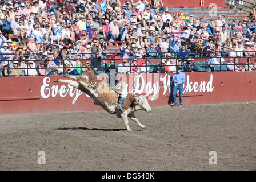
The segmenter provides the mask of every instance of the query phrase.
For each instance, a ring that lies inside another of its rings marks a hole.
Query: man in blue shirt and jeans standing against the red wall
[[[183,84],[185,83],[186,78],[185,78],[185,73],[183,73],[181,70],[182,70],[182,67],[178,66],[177,73],[175,73],[175,75],[173,76],[173,82],[174,82],[173,104],[171,104],[171,106],[181,106],[182,105]],[[178,91],[179,91],[179,105],[177,105],[177,100],[176,100]]]

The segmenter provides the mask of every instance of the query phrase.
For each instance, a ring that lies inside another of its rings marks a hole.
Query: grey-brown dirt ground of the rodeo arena
[[[0,170],[256,169],[256,102],[152,109],[133,132],[103,110],[0,115]]]

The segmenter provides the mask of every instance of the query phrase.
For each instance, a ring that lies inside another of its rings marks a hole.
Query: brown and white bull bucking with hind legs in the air
[[[114,90],[111,90],[107,84],[99,80],[98,77],[94,75],[90,67],[87,68],[88,71],[82,73],[82,75],[64,75],[65,77],[74,79],[75,81],[57,79],[54,80],[54,82],[67,83],[74,86],[74,88],[85,92],[87,95],[93,98],[95,101],[94,104],[101,106],[108,113],[116,113],[118,118],[122,118],[126,125],[127,131],[133,131],[129,127],[128,117],[137,122],[142,129],[145,129],[146,126],[142,125],[133,113],[137,110],[144,110],[147,112],[151,111],[151,107],[146,99],[148,94],[145,96],[136,96],[135,94],[129,93],[125,99],[125,102],[122,104],[124,111],[120,113],[120,111],[116,108],[118,105],[118,94],[115,93]]]

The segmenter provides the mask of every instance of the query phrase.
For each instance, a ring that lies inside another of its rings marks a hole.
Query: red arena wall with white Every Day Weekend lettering
[[[150,106],[168,105],[173,73],[118,75],[135,94],[150,96]],[[256,101],[255,72],[185,73],[183,105]],[[93,99],[67,84],[62,76],[1,77],[0,114],[100,110]],[[103,81],[105,76],[100,75]],[[131,88],[133,86],[133,88]]]

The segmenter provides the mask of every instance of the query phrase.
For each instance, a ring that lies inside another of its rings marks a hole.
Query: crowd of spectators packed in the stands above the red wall
[[[154,65],[153,73],[176,72],[175,65],[194,72],[197,69],[191,51],[206,52],[209,57],[255,56],[254,20],[250,24],[247,19],[226,23],[225,16],[220,15],[206,22],[187,16],[190,18],[185,20],[180,12],[170,13],[162,0],[126,0],[122,4],[119,0],[66,0],[62,6],[51,0],[1,2],[0,74],[80,75],[87,70],[80,60],[85,60],[95,74],[106,73],[109,66],[101,64],[113,56],[107,50],[111,42],[121,43],[118,57],[123,61],[117,73],[149,72],[154,59],[161,61]],[[13,36],[26,43],[25,50],[13,49]],[[252,65],[239,71],[255,70]]]

